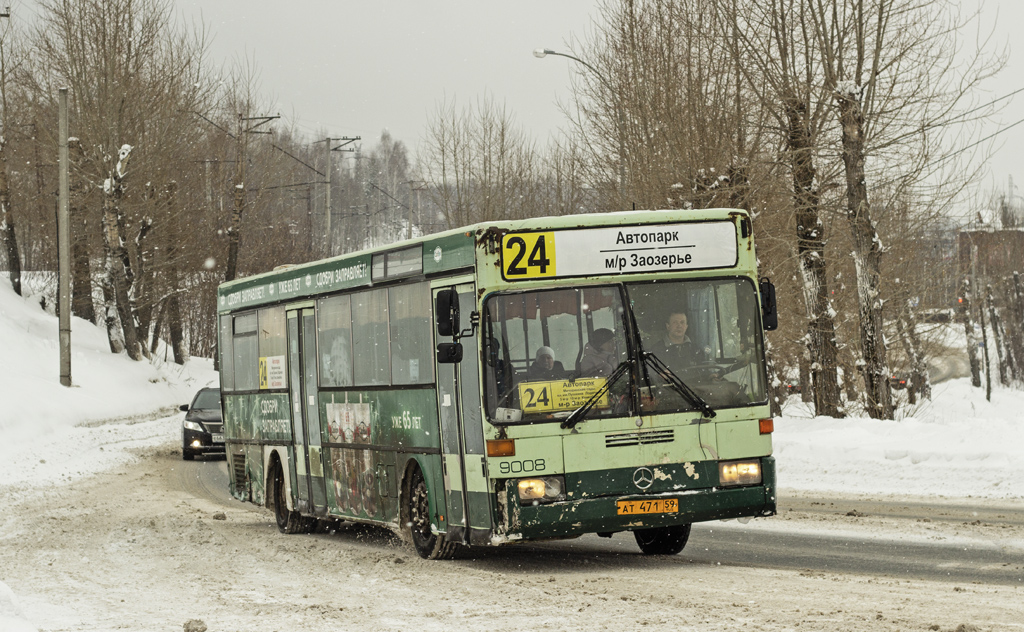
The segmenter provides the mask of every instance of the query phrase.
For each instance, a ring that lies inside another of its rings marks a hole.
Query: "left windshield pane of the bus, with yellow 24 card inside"
[[[617,286],[499,294],[484,304],[487,416],[498,422],[566,417],[628,357]],[[591,417],[629,414],[621,379]]]

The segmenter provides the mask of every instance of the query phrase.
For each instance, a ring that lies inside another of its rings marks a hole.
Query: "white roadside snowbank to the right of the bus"
[[[805,491],[1021,499],[1022,411],[1024,392],[993,390],[989,403],[970,378],[936,385],[933,402],[900,421],[810,418],[806,405],[796,403],[775,421],[778,484]]]

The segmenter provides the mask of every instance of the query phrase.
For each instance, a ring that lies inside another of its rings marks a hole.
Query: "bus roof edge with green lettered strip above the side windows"
[[[742,209],[668,209],[479,222],[328,259],[280,265],[267,272],[229,281],[217,289],[217,311],[296,300],[401,277],[469,269],[475,262],[477,239],[487,234],[737,217],[746,218],[749,213]],[[396,271],[389,273],[392,268]]]

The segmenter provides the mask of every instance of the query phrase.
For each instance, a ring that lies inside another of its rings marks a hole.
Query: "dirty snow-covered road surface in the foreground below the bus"
[[[714,538],[695,531],[688,549],[669,558],[642,556],[614,539],[609,549],[594,539],[431,562],[378,530],[283,536],[269,512],[211,498],[195,468],[220,467],[222,462],[183,463],[164,445],[139,461],[12,502],[0,530],[0,568],[12,592],[6,602],[0,595],[0,624],[14,623],[0,628],[178,631],[199,619],[210,630],[247,632],[798,625],[951,631],[961,624],[1013,629],[1024,621],[1021,586],[820,564],[766,567],[773,564],[744,564],[736,550],[726,554],[736,549],[729,538],[737,534],[763,532],[771,542],[773,529],[841,528],[865,537],[899,531],[886,525],[888,518],[846,520],[795,510],[744,525],[715,522],[708,525]],[[979,537],[962,525],[931,524],[941,528],[939,537]],[[1002,541],[1012,547],[1020,529],[998,531],[1007,532]],[[782,538],[775,541],[780,548]],[[4,608],[19,615],[4,619]]]

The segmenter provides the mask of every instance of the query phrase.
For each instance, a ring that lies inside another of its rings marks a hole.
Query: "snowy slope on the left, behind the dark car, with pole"
[[[161,353],[133,362],[111,353],[102,329],[73,318],[67,388],[57,329],[37,299],[0,281],[0,498],[113,467],[134,448],[171,440],[181,415],[171,407],[216,383],[208,360],[179,367]]]

